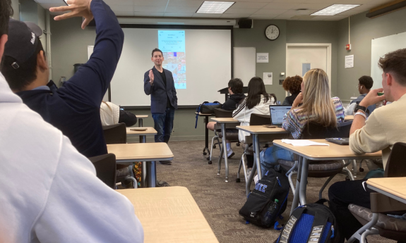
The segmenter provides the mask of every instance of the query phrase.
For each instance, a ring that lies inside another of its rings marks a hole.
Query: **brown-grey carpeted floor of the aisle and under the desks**
[[[225,167],[222,163],[221,175],[217,175],[217,158],[220,151],[214,149],[213,164],[209,165],[202,151],[204,141],[169,142],[169,147],[174,154],[172,166],[157,163],[157,179],[165,180],[171,186],[187,187],[219,242],[273,242],[279,232],[272,229],[259,228],[256,225],[246,225],[245,220],[239,216],[238,211],[246,201],[245,180],[236,183],[239,160],[242,149],[232,144],[235,156],[229,159],[229,182],[225,182]],[[366,169],[366,168],[365,168]],[[367,171],[367,169],[366,169]],[[365,173],[358,173],[357,177],[364,177]],[[241,170],[241,178],[244,171]],[[318,190],[326,179],[309,178],[307,186],[307,201],[318,199]],[[344,175],[337,175],[333,182],[345,180]],[[323,197],[327,198],[328,188],[324,190]],[[289,216],[292,205],[292,193],[289,194],[287,209],[282,223]],[[369,237],[369,243],[394,241],[382,237]]]

